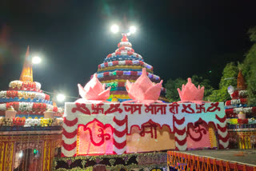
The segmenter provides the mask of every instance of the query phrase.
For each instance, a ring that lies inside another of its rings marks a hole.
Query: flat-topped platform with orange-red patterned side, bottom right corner
[[[256,170],[256,149],[168,151],[167,153],[168,165],[179,170],[188,168],[190,170]]]

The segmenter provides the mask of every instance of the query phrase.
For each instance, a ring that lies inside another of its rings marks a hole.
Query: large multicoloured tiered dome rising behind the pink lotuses
[[[122,34],[121,42],[118,43],[118,50],[107,55],[104,63],[98,65],[99,81],[106,83],[107,87],[111,87],[109,101],[130,100],[131,97],[126,91],[126,80],[135,82],[142,74],[142,68],[146,68],[147,75],[152,82],[160,82],[160,78],[153,74],[153,66],[144,62],[140,54],[134,53],[126,34]],[[168,101],[166,89],[162,88],[158,99]]]

